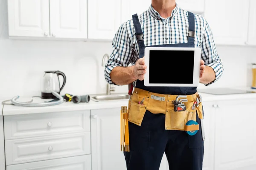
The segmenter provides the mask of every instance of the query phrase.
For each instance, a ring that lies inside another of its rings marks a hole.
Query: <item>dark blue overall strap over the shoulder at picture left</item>
[[[142,29],[141,29],[141,25],[140,25],[138,15],[134,14],[132,16],[132,20],[133,20],[133,23],[134,23],[137,42],[138,42],[139,48],[140,48],[140,58],[142,58],[142,57],[144,57],[145,44],[144,44],[144,36],[143,36],[143,32],[142,32]]]

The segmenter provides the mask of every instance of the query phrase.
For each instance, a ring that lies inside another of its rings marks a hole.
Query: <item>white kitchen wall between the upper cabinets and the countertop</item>
[[[217,49],[225,72],[221,80],[209,87],[249,86],[248,64],[256,62],[256,48],[218,46]],[[7,0],[0,0],[1,99],[40,95],[41,79],[47,70],[66,74],[67,84],[63,93],[105,93],[101,61],[103,55],[110,54],[111,50],[111,42],[9,40]],[[203,85],[200,87],[204,88]],[[126,93],[127,87],[117,87],[116,90]]]

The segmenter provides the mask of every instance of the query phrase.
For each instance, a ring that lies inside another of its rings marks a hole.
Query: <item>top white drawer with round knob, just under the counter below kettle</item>
[[[90,111],[4,116],[5,139],[90,132]]]

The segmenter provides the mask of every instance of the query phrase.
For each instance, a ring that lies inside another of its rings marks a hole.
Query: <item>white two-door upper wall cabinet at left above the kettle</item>
[[[9,36],[87,38],[87,0],[8,0]]]

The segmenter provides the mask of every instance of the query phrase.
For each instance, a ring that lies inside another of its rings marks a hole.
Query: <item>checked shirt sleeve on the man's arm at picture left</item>
[[[132,44],[125,23],[116,32],[112,41],[112,47],[112,54],[105,65],[105,79],[109,84],[116,85],[111,81],[111,71],[116,66],[127,67],[133,58]]]

